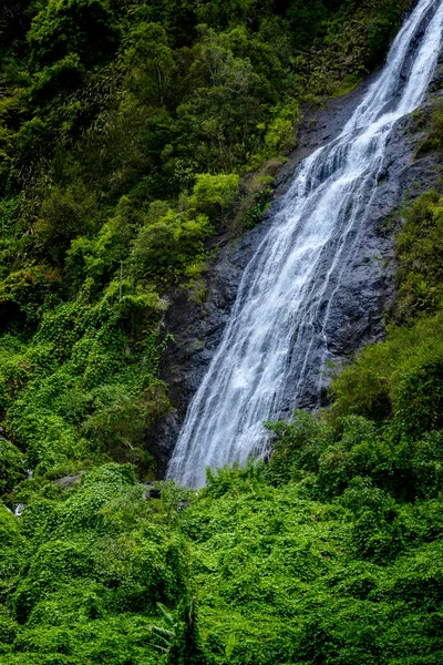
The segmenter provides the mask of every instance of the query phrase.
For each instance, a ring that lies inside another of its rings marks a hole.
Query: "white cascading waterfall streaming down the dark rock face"
[[[219,348],[189,406],[168,478],[197,488],[205,483],[207,466],[245,463],[264,454],[262,421],[278,417],[288,377],[297,377],[296,395],[302,391],[313,346],[317,354],[320,349],[320,391],[331,301],[359,248],[389,134],[423,100],[442,31],[443,1],[420,0],[341,134],[298,167],[244,273]],[[326,293],[331,295],[322,307]]]

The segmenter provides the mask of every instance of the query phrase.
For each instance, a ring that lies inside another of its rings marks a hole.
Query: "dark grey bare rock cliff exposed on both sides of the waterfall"
[[[425,133],[426,117],[439,96],[443,95],[443,59],[430,85],[422,106],[411,116],[399,121],[389,139],[379,186],[373,193],[370,212],[363,221],[359,248],[346,267],[341,287],[333,295],[328,329],[328,348],[336,366],[365,344],[383,338],[384,316],[394,298],[393,236],[401,223],[405,201],[435,187],[441,180],[441,165],[433,154],[416,155]],[[307,110],[297,150],[276,177],[272,202],[260,223],[240,238],[219,235],[213,244],[214,258],[205,276],[206,297],[202,305],[190,301],[183,289],[171,294],[171,305],[164,318],[164,329],[174,337],[164,355],[162,378],[169,386],[173,410],[147,432],[147,448],[158,461],[159,473],[183,424],[188,403],[203,380],[228,321],[243,272],[272,224],[281,194],[286,191],[299,162],[317,147],[337,136],[373,76],[348,95],[331,100],[320,111]],[[331,247],[332,252],[333,248]],[[332,287],[331,289],[332,290]],[[331,293],[324,294],[326,307]],[[281,417],[293,408],[315,408],[318,403],[317,380],[319,361],[316,351],[309,358],[308,379],[298,403],[289,389]],[[324,386],[328,379],[324,378]],[[321,401],[327,402],[326,388]]]

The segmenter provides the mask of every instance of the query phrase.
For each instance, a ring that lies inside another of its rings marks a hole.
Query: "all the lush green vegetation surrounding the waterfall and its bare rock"
[[[405,209],[387,340],[327,411],[199,492],[140,483],[167,290],[205,297],[206,241],[259,219],[300,104],[380,62],[406,4],[0,10],[1,665],[442,663],[440,193]]]

